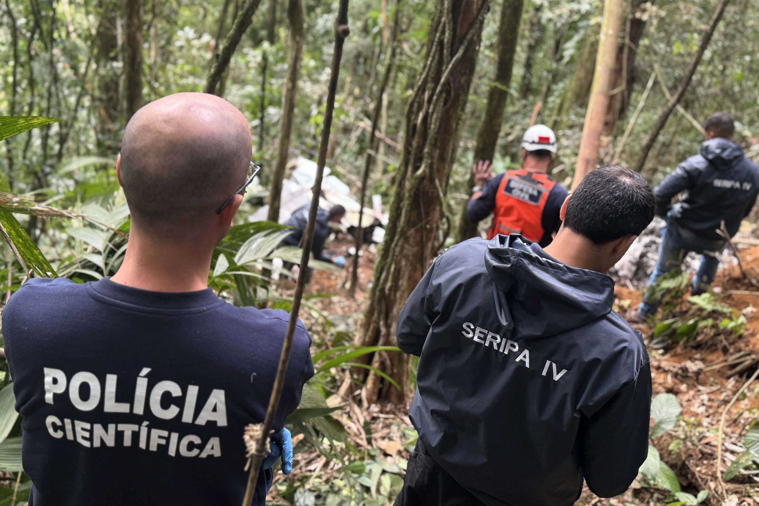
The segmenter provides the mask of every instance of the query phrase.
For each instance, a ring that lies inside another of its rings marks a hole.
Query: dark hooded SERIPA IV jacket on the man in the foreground
[[[569,506],[583,477],[624,492],[647,456],[651,376],[614,283],[520,236],[441,255],[398,318],[420,356],[411,422],[440,466],[490,506]]]

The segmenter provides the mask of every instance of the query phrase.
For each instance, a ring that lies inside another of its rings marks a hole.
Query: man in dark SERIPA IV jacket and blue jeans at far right
[[[710,115],[704,130],[706,141],[701,144],[701,153],[681,163],[653,191],[657,215],[666,219],[667,228],[649,286],[670,271],[679,270],[688,251],[695,251],[702,256],[691,293],[706,292],[720,265],[716,255],[726,245],[726,239],[717,231],[724,226],[723,232],[735,236],[741,220],[757,200],[759,168],[732,141],[735,126],[729,114]],[[672,206],[672,197],[681,191],[688,193],[682,202]],[[638,316],[642,319],[653,315],[662,295],[660,290],[648,289]]]

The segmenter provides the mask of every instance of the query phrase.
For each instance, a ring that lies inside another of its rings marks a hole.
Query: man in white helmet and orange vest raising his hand
[[[522,167],[493,177],[490,160],[474,164],[474,188],[467,206],[471,223],[493,213],[487,238],[498,234],[521,234],[545,247],[553,240],[568,191],[546,171],[556,153],[556,134],[546,125],[534,125],[521,142]]]

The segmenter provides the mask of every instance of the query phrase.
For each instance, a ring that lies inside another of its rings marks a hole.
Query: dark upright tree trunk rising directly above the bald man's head
[[[144,0],[126,0],[124,12],[124,119],[142,107],[142,24]]]

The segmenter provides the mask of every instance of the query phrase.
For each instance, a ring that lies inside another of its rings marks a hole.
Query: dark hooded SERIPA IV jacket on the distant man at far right
[[[687,190],[682,202],[670,206],[672,197]],[[743,148],[724,138],[701,144],[701,154],[690,157],[666,176],[653,194],[657,214],[670,216],[697,236],[718,241],[716,232],[724,220],[729,236],[735,236],[759,192],[759,167],[743,156]]]

